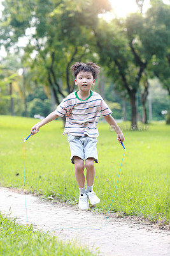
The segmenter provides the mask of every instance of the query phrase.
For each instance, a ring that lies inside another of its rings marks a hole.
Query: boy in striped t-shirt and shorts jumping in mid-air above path
[[[71,149],[71,163],[75,164],[75,177],[80,189],[78,207],[81,210],[89,208],[88,198],[91,205],[96,205],[100,202],[100,199],[93,191],[93,184],[95,176],[94,161],[98,163],[96,144],[99,132],[97,122],[101,113],[108,124],[117,132],[117,140],[120,143],[124,141],[122,131],[111,116],[111,109],[99,93],[90,90],[96,82],[99,69],[99,66],[92,62],[87,62],[86,64],[74,63],[71,66],[71,71],[79,90],[67,95],[55,111],[31,129],[32,134],[35,134],[41,126],[59,116],[66,115],[63,135],[67,133],[67,141]],[[85,189],[84,168],[87,170],[87,189]]]

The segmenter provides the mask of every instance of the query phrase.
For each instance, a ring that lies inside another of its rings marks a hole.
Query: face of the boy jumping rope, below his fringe
[[[78,85],[78,88],[82,91],[90,91],[92,85],[94,85],[96,80],[93,78],[92,72],[79,72],[75,84]]]

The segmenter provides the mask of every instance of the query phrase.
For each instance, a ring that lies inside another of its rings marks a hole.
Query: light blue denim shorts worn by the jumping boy
[[[83,161],[88,157],[94,157],[94,161],[98,163],[96,148],[97,138],[91,138],[87,136],[87,134],[84,136],[74,136],[67,133],[67,141],[71,151],[71,163],[74,164],[73,156],[78,156],[83,159]]]

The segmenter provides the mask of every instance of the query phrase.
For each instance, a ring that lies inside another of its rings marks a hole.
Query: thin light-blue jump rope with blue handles
[[[32,136],[32,132],[31,132],[31,134],[29,134],[29,136],[27,136],[27,138],[24,140],[24,142],[25,142],[25,145],[26,145],[26,141],[29,139],[29,137],[30,136]],[[124,154],[125,154],[125,152],[126,152],[126,149],[125,149],[125,147],[124,147],[124,143],[121,141],[121,144],[122,144],[122,147],[124,148]],[[25,147],[26,148],[26,147]],[[124,156],[122,157],[122,162],[123,162],[123,159],[124,159]],[[120,164],[120,170],[121,170],[121,167],[122,167],[122,162],[121,162],[121,164]],[[25,163],[26,163],[26,152],[25,152]],[[119,179],[119,175],[120,175],[120,170],[119,170],[119,173],[118,173],[118,179]],[[118,179],[117,179],[117,184],[118,184]],[[116,187],[115,187],[115,192],[116,192],[116,190],[117,190],[117,184],[116,184]],[[25,164],[24,164],[24,188],[25,188],[25,212],[26,212],[26,218],[27,218],[27,226],[29,225],[28,224],[28,216],[27,216],[27,200],[26,200],[26,185],[25,185]],[[113,203],[113,199],[114,199],[114,197],[115,197],[115,192],[114,192],[114,194],[113,194],[113,198],[112,198],[112,200],[111,200],[111,204],[110,204],[110,208],[109,208],[109,210],[108,210],[108,215],[107,215],[107,217],[106,217],[106,221],[105,221],[105,223],[104,223],[104,225],[102,226],[102,227],[100,227],[100,228],[89,228],[89,227],[62,227],[62,228],[55,228],[55,229],[53,229],[53,230],[48,230],[48,232],[53,232],[53,231],[55,231],[55,230],[64,230],[64,229],[90,229],[90,230],[101,230],[102,228],[104,228],[105,226],[106,226],[106,223],[107,223],[107,221],[108,221],[108,216],[109,216],[109,212],[110,212],[110,209],[111,209],[111,205],[112,205],[112,203]],[[48,232],[46,232],[46,233],[48,233]]]

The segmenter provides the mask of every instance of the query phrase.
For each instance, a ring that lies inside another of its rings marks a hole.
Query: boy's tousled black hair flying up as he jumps
[[[73,76],[76,78],[78,73],[81,71],[83,72],[92,72],[92,76],[94,79],[96,79],[97,74],[100,72],[100,67],[93,62],[87,62],[86,64],[83,62],[75,62],[71,68],[71,72],[73,73]]]

